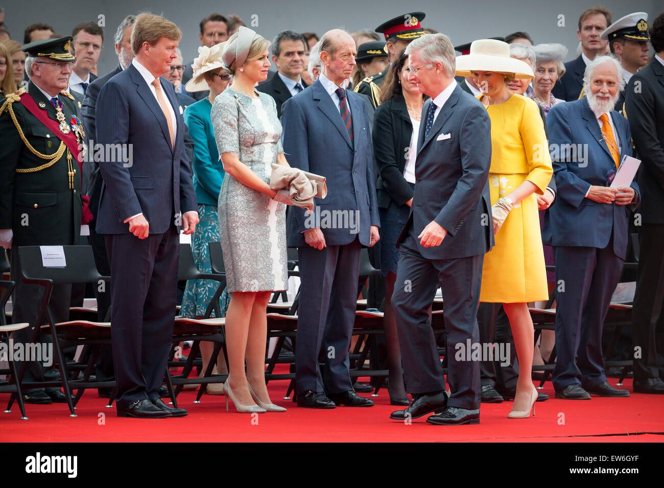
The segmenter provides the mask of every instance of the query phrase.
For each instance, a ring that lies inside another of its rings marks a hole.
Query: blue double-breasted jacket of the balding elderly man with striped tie
[[[346,214],[349,210],[358,211],[358,233],[353,233],[350,226],[323,228],[321,225],[326,244],[343,246],[359,237],[364,246],[369,246],[370,227],[380,225],[369,116],[361,96],[353,90],[346,90],[346,94],[353,117],[353,143],[335,102],[316,80],[282,106],[284,152],[291,167],[327,178],[327,197],[315,199],[314,216],[321,210],[329,210],[326,214],[331,216],[335,215],[334,210],[346,210]],[[325,214],[320,215],[322,223]],[[295,206],[288,208],[286,219],[288,245],[307,245],[302,232],[315,227],[312,224],[317,222],[311,222],[315,219],[307,219],[303,208]]]

